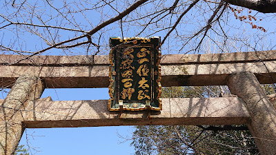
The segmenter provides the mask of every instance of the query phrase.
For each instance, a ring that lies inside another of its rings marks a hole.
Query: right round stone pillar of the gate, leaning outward
[[[248,129],[261,154],[276,154],[276,110],[252,72],[229,76],[227,85],[232,94],[243,99],[250,114]]]

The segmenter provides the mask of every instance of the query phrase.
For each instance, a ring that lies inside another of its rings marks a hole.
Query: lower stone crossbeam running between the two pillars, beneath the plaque
[[[240,125],[249,121],[244,102],[235,97],[162,99],[163,110],[108,111],[107,100],[37,101],[21,111],[29,128],[116,125]]]

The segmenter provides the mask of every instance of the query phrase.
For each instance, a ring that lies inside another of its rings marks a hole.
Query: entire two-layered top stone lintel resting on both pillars
[[[172,54],[161,58],[162,86],[226,85],[226,77],[253,72],[260,83],[276,83],[275,50],[228,54]],[[23,74],[43,79],[48,88],[108,87],[108,56],[0,55],[0,85],[10,87]],[[262,60],[262,61],[261,61]]]

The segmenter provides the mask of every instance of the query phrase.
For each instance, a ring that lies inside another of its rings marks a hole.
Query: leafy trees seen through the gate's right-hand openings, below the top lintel
[[[162,97],[215,97],[227,87],[164,87]],[[241,126],[241,125],[232,125]],[[204,128],[205,127],[205,128]],[[198,126],[137,126],[132,134],[135,154],[258,154],[249,131],[206,130]]]

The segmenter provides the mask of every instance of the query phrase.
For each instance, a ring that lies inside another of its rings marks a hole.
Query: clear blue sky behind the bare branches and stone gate
[[[1,1],[3,3],[3,0]],[[0,2],[0,4],[1,4]],[[35,1],[30,1],[30,3],[35,2]],[[115,1],[116,2],[116,1]],[[114,3],[115,3],[114,2]],[[172,2],[172,1],[167,1]],[[60,6],[61,1],[55,1],[55,6]],[[117,3],[117,2],[116,2]],[[39,5],[43,6],[43,3],[40,1]],[[61,5],[62,6],[62,5]],[[113,17],[114,12],[112,12],[112,10],[110,10],[110,8],[108,8],[108,6],[106,6],[107,10],[105,10],[107,15],[111,14],[110,17]],[[151,6],[148,6],[148,8],[152,8]],[[204,8],[204,7],[202,7]],[[181,9],[181,8],[179,8]],[[46,8],[46,10],[49,10],[49,8]],[[7,12],[9,12],[10,10],[8,10]],[[16,10],[17,11],[17,10]],[[2,10],[0,10],[1,14],[6,14],[7,12],[5,12],[5,10],[2,8]],[[53,11],[54,12],[54,11]],[[246,12],[246,11],[245,11]],[[57,12],[56,12],[57,14]],[[200,24],[197,25],[197,27],[194,25],[195,21],[193,21],[192,19],[194,17],[198,17],[197,18],[197,22],[198,23],[203,23],[206,24],[206,21],[203,20],[203,17],[200,16],[199,11],[198,10],[193,10],[193,14],[195,16],[192,16],[192,13],[190,13],[191,15],[187,15],[186,18],[189,18],[190,21],[188,23],[183,23],[181,26],[179,26],[178,30],[179,33],[183,34],[185,36],[186,33],[188,32],[195,32],[196,29],[200,28]],[[253,12],[253,14],[255,14],[255,12]],[[210,14],[206,14],[206,17],[209,17]],[[259,15],[259,14],[257,14]],[[262,16],[262,14],[260,14],[259,16]],[[88,17],[88,19],[93,19],[92,21],[92,26],[98,25],[99,23],[101,23],[101,19],[102,17],[99,16],[99,12],[97,12],[97,14],[86,14],[86,17]],[[106,17],[107,18],[107,17]],[[174,17],[175,18],[175,17]],[[87,23],[88,21],[86,21],[85,19],[78,17],[76,18],[77,23],[81,23],[82,25],[90,25],[89,23]],[[273,21],[274,23],[269,23],[269,20],[272,19],[271,21]],[[248,25],[247,23],[242,23],[239,20],[234,19],[233,17],[228,20],[228,27],[232,28],[231,31],[229,32],[229,34],[231,34],[231,37],[235,37],[235,34],[241,33],[242,30],[244,30],[245,27],[247,28],[247,34],[246,32],[244,32],[244,34],[246,34],[246,36],[250,37],[251,34],[254,34],[256,32],[258,32],[258,30],[256,29],[251,29],[250,25]],[[262,20],[262,21],[256,21],[256,24],[258,25],[262,25],[264,26],[264,28],[266,28],[268,30],[269,33],[273,33],[276,31],[274,26],[270,26],[270,25],[275,25],[275,19],[274,17],[271,18],[267,18],[268,21],[266,21],[266,19]],[[227,22],[226,22],[227,23]],[[3,23],[2,23],[3,24]],[[54,24],[50,22],[50,24]],[[120,30],[118,30],[118,25],[119,22],[116,22],[112,25],[109,25],[108,27],[106,27],[106,29],[103,29],[103,43],[106,43],[106,47],[103,47],[103,51],[105,51],[105,54],[108,53],[109,48],[108,48],[108,39],[109,37],[112,36],[121,36],[121,32]],[[91,26],[91,27],[92,27]],[[1,27],[1,24],[0,24]],[[84,26],[83,26],[84,28]],[[115,30],[113,29],[115,28]],[[117,28],[117,29],[116,29]],[[91,28],[88,26],[87,28],[88,30],[90,30]],[[140,28],[141,29],[141,28]],[[132,37],[135,34],[135,31],[138,31],[137,29],[135,29],[135,27],[128,27],[128,23],[126,23],[126,25],[124,25],[124,32],[125,32],[125,37]],[[267,32],[267,33],[268,33]],[[11,32],[0,32],[0,36],[2,35],[6,35],[9,36],[9,34],[11,34],[11,38],[12,38],[12,31]],[[66,32],[63,32],[61,34],[65,34]],[[144,32],[144,34],[141,34],[141,36],[146,36],[146,34],[148,34],[147,32]],[[260,33],[262,34],[262,33]],[[166,34],[165,32],[160,32],[155,34],[156,36],[161,36],[161,38],[163,38]],[[216,35],[216,34],[212,34],[212,35]],[[61,35],[63,36],[63,35]],[[68,34],[68,36],[70,36]],[[61,37],[61,40],[64,39],[68,39],[67,35],[64,35],[63,37]],[[99,33],[95,34],[95,41],[97,41],[97,37],[99,36]],[[273,35],[272,35],[273,36]],[[275,36],[275,34],[274,34]],[[28,39],[26,39],[28,38]],[[176,41],[177,39],[173,39],[173,35],[171,38],[168,38],[168,42],[165,43],[165,46],[167,47],[169,43],[172,43],[173,41]],[[215,37],[214,37],[215,38]],[[267,39],[267,43],[269,44],[271,39],[273,37],[271,37],[270,39]],[[275,38],[275,37],[274,37]],[[24,42],[23,45],[26,45],[27,50],[32,50],[32,51],[36,51],[37,48],[41,48],[40,46],[40,42],[37,41],[35,38],[35,36],[33,34],[23,34],[23,39],[26,39],[26,43]],[[171,40],[170,40],[171,39]],[[254,41],[254,39],[249,39],[248,40],[252,40],[249,41],[250,43],[252,43]],[[3,43],[9,42],[10,39],[3,39]],[[209,52],[214,52],[216,49],[212,48],[213,46],[210,45],[210,47],[208,47],[208,43],[210,42],[210,44],[212,44],[212,42],[210,41],[210,39],[208,41],[206,41],[206,49],[208,50],[208,48],[210,48]],[[37,43],[36,45],[34,45],[34,43]],[[229,43],[233,43],[233,47],[235,47],[235,42],[231,42],[229,41]],[[259,43],[260,45],[264,45],[262,43]],[[48,45],[46,45],[48,46]],[[164,48],[162,50],[163,54],[164,53],[177,53],[179,52],[177,50],[177,48],[179,48],[179,44],[175,44],[172,46],[168,46],[171,48]],[[247,47],[246,47],[247,48]],[[245,52],[246,48],[240,48],[240,49],[236,49],[236,48],[230,48],[230,52],[239,52],[239,50]],[[272,45],[269,46],[269,48],[275,48],[275,43],[272,43]],[[206,50],[204,49],[204,50]],[[259,47],[258,50],[262,50],[262,47]],[[266,50],[266,47],[264,47],[264,50]],[[43,54],[52,54],[52,55],[63,55],[63,52],[60,52],[61,50],[50,50],[49,52],[45,52]],[[81,51],[80,48],[75,48],[74,50],[70,51],[72,53],[66,53],[66,54],[86,54],[86,52],[79,52]],[[84,48],[84,51],[86,51],[86,48]],[[91,50],[92,52],[95,52],[95,49]],[[252,51],[252,50],[249,50]],[[91,53],[92,53],[91,52]],[[185,50],[184,50],[185,52]],[[88,53],[88,54],[91,54]],[[1,53],[3,54],[3,53]],[[190,54],[190,53],[189,53]],[[54,101],[72,101],[72,100],[97,100],[97,99],[109,99],[109,95],[108,95],[108,88],[91,88],[91,89],[46,89],[43,92],[43,95],[41,96],[43,97],[47,97],[47,96],[51,96],[52,99]],[[120,154],[120,155],[124,155],[124,154],[133,154],[135,152],[134,147],[130,147],[130,143],[131,141],[126,141],[125,143],[119,143],[120,141],[124,141],[124,139],[119,138],[120,134],[123,137],[131,137],[131,133],[132,133],[133,127],[79,127],[79,128],[52,128],[52,129],[27,129],[26,132],[24,132],[23,137],[21,138],[21,142],[19,145],[26,145],[26,147],[30,146],[30,151],[32,154],[37,154],[37,155],[44,155],[44,154],[66,154],[66,155],[71,155],[71,154]],[[26,134],[28,134],[28,136],[26,137]],[[28,139],[28,141],[27,141]],[[37,152],[37,151],[39,152]]]

